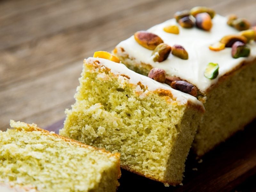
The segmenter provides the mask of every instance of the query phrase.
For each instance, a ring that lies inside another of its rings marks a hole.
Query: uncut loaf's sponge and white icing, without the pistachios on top
[[[198,156],[203,156],[256,117],[256,42],[246,44],[251,49],[248,57],[232,58],[229,47],[212,51],[209,45],[223,36],[239,33],[227,25],[226,17],[215,15],[212,23],[210,31],[182,28],[175,19],[148,29],[164,43],[184,46],[188,60],[170,54],[163,62],[154,62],[152,51],[138,44],[133,36],[119,43],[113,51],[122,63],[140,74],[147,76],[150,69],[161,68],[167,75],[179,77],[198,88],[198,99],[204,102],[206,110],[193,143]],[[164,32],[163,28],[168,25],[177,25],[180,34]],[[215,79],[204,76],[210,62],[219,64],[219,75]]]

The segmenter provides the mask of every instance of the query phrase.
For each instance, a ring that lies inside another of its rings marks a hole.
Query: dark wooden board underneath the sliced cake
[[[64,119],[45,129],[58,133],[63,122]],[[255,135],[256,120],[203,156],[202,163],[190,154],[183,186],[164,187],[160,182],[122,170],[118,191],[256,191]]]

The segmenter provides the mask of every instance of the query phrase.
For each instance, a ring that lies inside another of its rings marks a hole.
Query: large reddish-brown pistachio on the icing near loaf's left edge
[[[157,45],[164,43],[159,36],[148,31],[137,31],[134,34],[134,38],[141,46],[149,50],[154,50]]]

